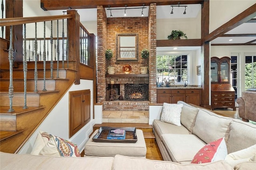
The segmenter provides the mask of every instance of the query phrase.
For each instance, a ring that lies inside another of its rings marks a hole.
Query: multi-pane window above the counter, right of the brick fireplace
[[[157,55],[158,87],[188,81],[188,55]]]

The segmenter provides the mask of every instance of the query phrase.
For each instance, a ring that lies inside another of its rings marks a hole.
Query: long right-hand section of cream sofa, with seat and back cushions
[[[223,137],[228,154],[256,144],[256,125],[216,115],[183,101],[177,104],[183,104],[181,126],[158,119],[153,121],[154,135],[164,160],[190,164],[200,148]]]

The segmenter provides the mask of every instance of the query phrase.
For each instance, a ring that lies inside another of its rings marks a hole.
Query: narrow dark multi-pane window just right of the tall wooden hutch
[[[238,97],[238,54],[231,56],[231,79],[232,86],[235,90],[235,99]]]

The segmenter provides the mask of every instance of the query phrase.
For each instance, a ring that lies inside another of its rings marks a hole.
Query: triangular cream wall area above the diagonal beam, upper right
[[[255,3],[256,0],[210,0],[209,33]]]

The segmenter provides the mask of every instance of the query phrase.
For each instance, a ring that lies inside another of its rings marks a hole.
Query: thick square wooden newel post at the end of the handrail
[[[68,18],[67,30],[68,30],[68,56],[70,61],[76,61],[76,77],[75,84],[80,84],[80,16],[76,10],[67,10],[67,14],[71,14],[73,17]]]

